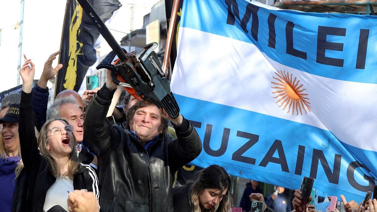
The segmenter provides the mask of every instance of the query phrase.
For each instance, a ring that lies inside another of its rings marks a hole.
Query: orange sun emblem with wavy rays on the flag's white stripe
[[[285,71],[284,72],[277,71],[277,73],[275,72],[275,74],[277,77],[273,76],[273,78],[277,81],[271,82],[271,83],[276,84],[278,86],[277,87],[271,86],[271,88],[278,89],[277,91],[274,91],[272,93],[277,94],[277,96],[274,97],[274,98],[278,98],[276,103],[279,103],[281,101],[281,104],[279,107],[283,106],[283,104],[285,103],[283,107],[283,111],[284,111],[285,108],[287,108],[289,104],[287,113],[289,113],[292,108],[292,115],[294,114],[295,110],[297,113],[296,115],[299,115],[299,111],[300,111],[300,114],[302,115],[302,109],[303,111],[305,111],[305,114],[307,114],[307,111],[305,108],[307,108],[308,111],[311,112],[310,106],[309,106],[310,103],[307,101],[309,100],[309,98],[305,97],[308,94],[303,93],[303,91],[305,91],[306,89],[300,90],[300,88],[302,88],[303,86],[303,84],[299,85],[300,80],[296,81],[296,77],[294,77],[294,80],[292,81],[293,74],[290,75],[289,72],[285,74]]]

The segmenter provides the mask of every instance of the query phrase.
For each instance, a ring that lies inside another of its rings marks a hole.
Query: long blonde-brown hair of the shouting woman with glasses
[[[80,163],[78,157],[77,157],[77,150],[76,145],[74,145],[72,152],[69,154],[69,161],[68,161],[68,171],[65,174],[60,173],[60,166],[55,160],[54,157],[52,157],[51,152],[47,149],[47,143],[48,143],[48,137],[47,134],[49,132],[49,125],[52,121],[64,121],[66,124],[68,124],[68,121],[64,118],[51,118],[44,123],[44,125],[41,128],[41,131],[38,135],[38,146],[41,154],[46,159],[48,163],[48,167],[51,170],[52,174],[55,178],[61,177],[61,175],[65,177],[69,177],[71,180],[73,180],[76,172],[78,171],[78,165]],[[76,143],[76,138],[73,137],[74,144]]]

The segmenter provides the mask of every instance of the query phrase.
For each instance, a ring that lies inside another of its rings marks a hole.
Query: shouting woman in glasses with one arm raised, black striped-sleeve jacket
[[[98,199],[98,179],[89,165],[79,162],[73,126],[67,120],[56,118],[46,121],[38,139],[35,137],[31,103],[34,72],[34,64],[25,58],[20,70],[23,84],[18,132],[27,192],[19,194],[15,201],[25,211],[68,211],[68,194],[74,190],[94,192]]]

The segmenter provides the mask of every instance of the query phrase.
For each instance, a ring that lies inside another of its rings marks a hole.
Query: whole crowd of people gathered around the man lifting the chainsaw
[[[175,186],[175,172],[202,151],[195,128],[181,114],[171,118],[153,101],[127,95],[124,110],[114,114],[123,123],[110,124],[106,115],[117,88],[110,71],[102,88],[85,91],[83,96],[72,90],[60,92],[48,108],[47,82],[62,68],[61,64],[52,67],[59,53],[48,58],[34,88],[35,65],[24,56],[21,94],[8,95],[1,102],[2,211],[231,209],[231,180],[221,166],[211,165],[184,185]],[[283,207],[282,212],[290,211],[283,187],[264,201],[257,186],[257,181],[251,181],[245,189],[244,211],[250,210],[252,201],[276,211]],[[294,210],[314,210],[300,201],[300,190],[294,195]],[[359,209],[354,201],[344,198],[343,203],[350,212]],[[368,203],[374,212],[376,200]]]

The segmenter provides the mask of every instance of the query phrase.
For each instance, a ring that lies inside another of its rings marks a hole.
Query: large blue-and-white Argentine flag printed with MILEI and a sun
[[[171,88],[192,164],[360,202],[377,177],[377,17],[184,0]]]

